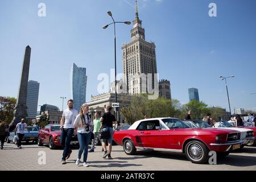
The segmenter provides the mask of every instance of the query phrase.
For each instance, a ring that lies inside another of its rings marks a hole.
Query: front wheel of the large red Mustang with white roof
[[[185,145],[185,155],[192,163],[203,164],[209,159],[208,148],[203,142],[191,141]]]

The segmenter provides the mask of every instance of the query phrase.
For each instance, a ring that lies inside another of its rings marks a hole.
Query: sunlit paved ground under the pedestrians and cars
[[[46,164],[40,165],[38,153],[44,151]],[[157,171],[157,170],[256,170],[256,147],[245,147],[233,152],[223,159],[217,160],[217,165],[193,164],[183,154],[170,152],[137,151],[137,155],[126,155],[121,146],[113,146],[113,160],[102,159],[101,146],[95,152],[88,153],[89,168],[76,166],[78,148],[74,148],[67,164],[61,164],[62,150],[50,150],[47,146],[24,144],[18,149],[15,144],[5,143],[0,150],[0,170],[110,170],[110,171]]]

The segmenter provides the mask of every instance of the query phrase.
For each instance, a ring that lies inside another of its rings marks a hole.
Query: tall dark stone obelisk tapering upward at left
[[[17,103],[14,109],[14,118],[13,121],[11,121],[11,125],[13,126],[19,123],[22,118],[27,117],[27,83],[28,73],[30,72],[30,55],[31,48],[27,46],[22,65]]]

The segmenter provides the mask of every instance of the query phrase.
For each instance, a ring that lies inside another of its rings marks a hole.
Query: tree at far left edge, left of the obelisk
[[[16,98],[0,96],[0,119],[6,123],[10,123],[14,117],[14,108]]]

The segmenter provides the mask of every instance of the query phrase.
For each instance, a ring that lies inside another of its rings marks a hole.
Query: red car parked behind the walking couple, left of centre
[[[60,144],[60,125],[50,124],[40,129],[38,135],[38,146],[43,146],[43,144],[48,144],[50,149],[56,149]],[[71,144],[79,144],[77,135],[73,135],[71,139]]]

